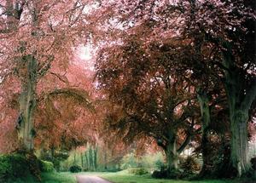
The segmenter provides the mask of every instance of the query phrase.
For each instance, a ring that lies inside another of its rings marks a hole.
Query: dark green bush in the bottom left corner
[[[20,154],[8,154],[0,156],[0,182],[14,180],[31,175],[29,162]]]

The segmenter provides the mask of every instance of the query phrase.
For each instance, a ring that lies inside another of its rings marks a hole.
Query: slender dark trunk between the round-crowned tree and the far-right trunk
[[[202,153],[202,168],[201,176],[210,174],[211,172],[211,148],[209,146],[208,131],[211,123],[209,100],[205,91],[199,90],[197,93],[197,99],[199,100],[201,108],[201,121],[202,121],[202,134],[201,134],[201,153]]]

